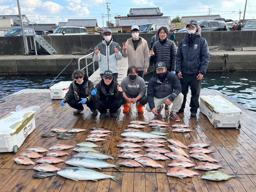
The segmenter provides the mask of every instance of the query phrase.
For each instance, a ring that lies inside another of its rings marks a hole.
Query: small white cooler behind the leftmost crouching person
[[[69,86],[72,81],[60,81],[50,87],[51,99],[62,99],[69,91]]]

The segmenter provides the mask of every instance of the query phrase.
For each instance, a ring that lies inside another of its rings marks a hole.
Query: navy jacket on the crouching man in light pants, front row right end
[[[173,102],[181,93],[181,90],[181,84],[177,75],[167,71],[165,80],[161,82],[157,74],[155,74],[147,86],[147,101],[150,109],[153,110],[155,108],[154,97],[160,99],[170,95],[168,99]]]

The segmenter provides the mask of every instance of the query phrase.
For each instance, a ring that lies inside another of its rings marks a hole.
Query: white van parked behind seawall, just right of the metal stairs
[[[51,35],[87,35],[87,29],[85,27],[75,26],[61,26],[58,27]]]

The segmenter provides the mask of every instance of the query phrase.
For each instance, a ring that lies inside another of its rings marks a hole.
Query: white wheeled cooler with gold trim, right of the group
[[[219,95],[200,96],[200,111],[208,117],[215,129],[218,127],[241,128],[242,111]]]

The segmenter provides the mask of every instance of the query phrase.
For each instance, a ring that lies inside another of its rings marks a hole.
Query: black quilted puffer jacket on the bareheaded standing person
[[[155,55],[151,57],[151,65],[153,65],[153,63],[156,65],[156,63],[162,61],[165,63],[167,69],[175,71],[177,48],[174,41],[166,38],[162,45],[159,39],[154,43],[152,48]]]

